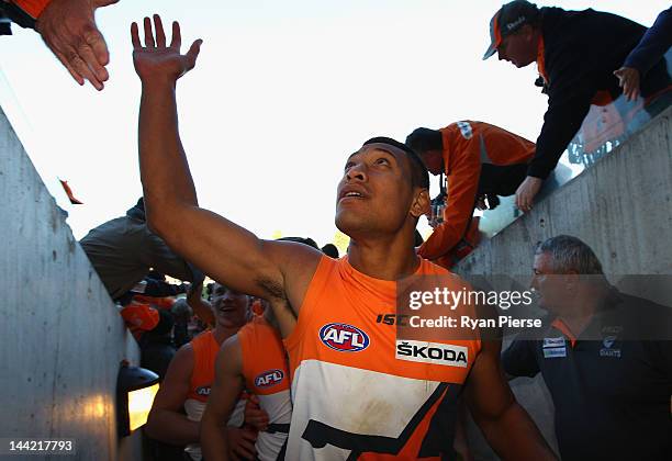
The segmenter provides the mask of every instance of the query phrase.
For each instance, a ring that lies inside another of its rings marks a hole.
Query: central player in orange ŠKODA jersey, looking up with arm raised
[[[348,157],[336,202],[336,225],[350,237],[344,258],[261,240],[199,207],[175,91],[195,65],[201,42],[180,55],[179,25],[169,45],[160,18],[154,25],[156,34],[145,19],[145,46],[137,24],[131,34],[142,81],[139,160],[148,221],[205,273],[273,305],[292,374],[287,459],[449,458],[460,392],[502,458],[555,459],[503,379],[499,341],[425,342],[423,349],[400,345],[393,328],[376,322],[377,314],[395,312],[396,281],[449,274],[415,254],[415,226],[429,207],[429,178],[417,155],[374,138]],[[372,65],[361,71],[384,78],[389,70]],[[306,146],[310,158],[318,147]],[[301,181],[303,167],[289,179]],[[432,362],[419,357],[425,352],[440,357]]]

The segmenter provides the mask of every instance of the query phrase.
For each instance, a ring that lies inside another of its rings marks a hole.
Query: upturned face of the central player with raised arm
[[[413,202],[408,157],[394,146],[370,145],[346,161],[336,196],[336,226],[355,237],[394,234]]]

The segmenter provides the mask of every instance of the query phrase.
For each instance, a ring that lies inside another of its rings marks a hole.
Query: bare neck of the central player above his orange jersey
[[[399,280],[415,273],[419,258],[415,248],[406,241],[350,240],[348,262],[359,272],[374,279]]]

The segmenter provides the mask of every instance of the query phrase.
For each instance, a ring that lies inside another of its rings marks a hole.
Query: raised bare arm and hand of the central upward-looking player
[[[137,24],[131,26],[133,60],[143,88],[138,148],[148,225],[211,278],[242,293],[288,300],[299,308],[320,252],[305,245],[261,240],[199,207],[178,132],[176,83],[194,67],[201,41],[181,55],[179,24],[172,23],[170,45],[158,15],[154,25],[156,36],[145,18],[145,46]]]

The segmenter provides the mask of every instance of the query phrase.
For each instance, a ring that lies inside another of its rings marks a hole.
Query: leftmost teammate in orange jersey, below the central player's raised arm
[[[215,358],[220,346],[235,335],[248,318],[248,296],[215,283],[212,296],[214,328],[197,336],[175,355],[147,419],[147,435],[165,443],[187,446],[184,451],[201,459],[199,421],[214,381]],[[255,434],[238,429],[243,425],[244,403],[226,419],[232,446],[237,450],[256,439]]]

